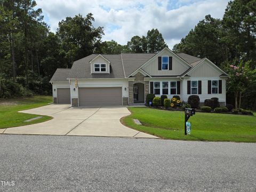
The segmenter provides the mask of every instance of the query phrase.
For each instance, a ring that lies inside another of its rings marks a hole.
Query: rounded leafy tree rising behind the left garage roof
[[[92,13],[89,13],[86,17],[78,14],[59,22],[57,35],[68,67],[71,67],[73,61],[92,54],[100,46],[103,28],[93,27],[93,21]]]

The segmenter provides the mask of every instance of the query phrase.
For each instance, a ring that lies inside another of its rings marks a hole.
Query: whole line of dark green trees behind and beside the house
[[[231,1],[222,19],[206,15],[173,47],[227,71],[227,102],[245,108],[256,108],[255,10],[256,0]],[[67,17],[52,33],[35,1],[0,0],[0,98],[51,94],[55,70],[92,53],[156,53],[167,47],[158,29],[133,36],[126,45],[102,42],[103,27],[93,21],[92,13]]]

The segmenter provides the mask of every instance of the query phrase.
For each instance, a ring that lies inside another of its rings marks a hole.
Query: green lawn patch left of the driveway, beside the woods
[[[23,122],[27,119],[38,117],[39,115],[18,113],[18,111],[32,109],[47,105],[52,102],[50,96],[35,96],[33,98],[22,99],[1,99],[0,100],[0,129],[22,125],[41,123],[52,119],[50,116],[43,116],[40,119]],[[42,115],[40,115],[42,116]]]

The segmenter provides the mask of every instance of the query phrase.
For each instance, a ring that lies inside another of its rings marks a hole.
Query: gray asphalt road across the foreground
[[[0,134],[0,191],[255,192],[256,143]]]

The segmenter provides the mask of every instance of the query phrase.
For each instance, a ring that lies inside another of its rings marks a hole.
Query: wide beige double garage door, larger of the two
[[[122,105],[121,87],[79,88],[79,106]]]

